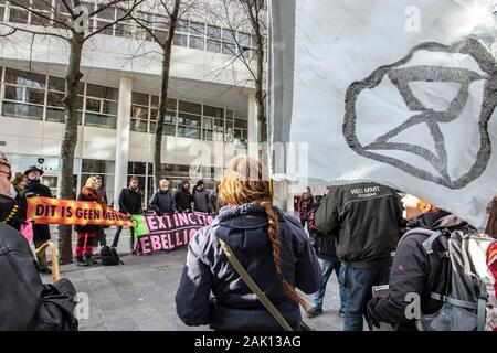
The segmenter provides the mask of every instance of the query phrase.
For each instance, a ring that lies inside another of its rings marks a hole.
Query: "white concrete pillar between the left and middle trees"
[[[133,79],[121,77],[119,82],[119,101],[117,107],[116,130],[116,170],[114,181],[114,205],[118,207],[120,190],[127,186],[129,128],[131,125]]]

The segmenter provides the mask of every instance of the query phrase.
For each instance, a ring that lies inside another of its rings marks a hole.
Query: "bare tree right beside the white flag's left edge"
[[[225,45],[223,50],[232,54],[225,65],[219,71],[233,67],[235,62],[242,63],[248,71],[251,82],[239,82],[243,88],[252,83],[255,87],[255,101],[257,105],[257,142],[267,142],[267,115],[266,97],[264,88],[266,82],[266,0],[220,0],[218,6],[205,1],[204,7],[212,20],[219,23],[223,31],[231,32],[230,42],[234,45]],[[241,36],[239,31],[250,32],[252,45]],[[223,35],[223,38],[226,38]],[[261,151],[261,159],[267,162],[267,151]]]

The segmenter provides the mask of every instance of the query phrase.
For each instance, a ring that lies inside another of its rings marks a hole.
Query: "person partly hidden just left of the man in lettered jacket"
[[[327,192],[325,192],[325,196],[328,195],[329,189],[327,188]],[[322,287],[319,288],[317,292],[313,296],[314,306],[309,310],[307,317],[308,318],[315,318],[317,315],[320,315],[322,313],[322,302],[325,299],[325,292],[326,292],[326,285],[331,277],[334,270],[337,275],[337,279],[339,281],[339,297],[340,297],[340,303],[339,303],[339,314],[345,315],[345,306],[346,306],[346,291],[342,284],[342,278],[340,278],[340,268],[341,268],[341,260],[337,256],[337,250],[335,248],[335,238],[334,235],[325,235],[320,233],[316,226],[315,222],[315,214],[316,211],[320,206],[320,201],[316,197],[316,203],[314,204],[313,212],[309,214],[309,235],[311,240],[314,242],[314,248],[316,250],[316,255],[319,260],[319,265],[321,265],[322,269],[322,278],[324,284]]]

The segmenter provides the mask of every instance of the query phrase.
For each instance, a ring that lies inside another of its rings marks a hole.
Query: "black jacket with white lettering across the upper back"
[[[403,223],[401,197],[377,183],[335,186],[321,201],[316,225],[337,236],[337,255],[357,268],[390,264]]]

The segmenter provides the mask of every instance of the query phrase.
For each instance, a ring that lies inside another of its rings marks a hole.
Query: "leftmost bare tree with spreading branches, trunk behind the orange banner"
[[[61,180],[60,195],[62,199],[73,197],[73,162],[77,142],[77,110],[78,86],[83,77],[81,61],[84,44],[94,35],[112,28],[118,22],[131,17],[133,11],[145,0],[112,0],[97,3],[82,2],[81,0],[35,0],[33,4],[25,0],[10,0],[11,6],[28,11],[36,19],[36,26],[27,26],[17,23],[1,23],[0,28],[8,31],[2,34],[12,35],[15,32],[30,33],[33,36],[50,36],[62,40],[70,46],[68,65],[65,76],[64,97],[64,138],[61,148]],[[93,7],[92,9],[88,7]],[[118,15],[95,30],[91,30],[88,23],[103,11],[118,8]],[[71,264],[73,260],[71,226],[61,226],[59,232],[59,248],[62,264]]]

